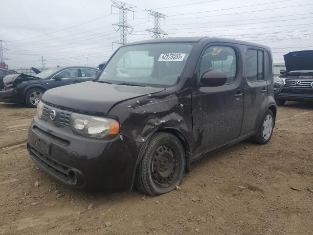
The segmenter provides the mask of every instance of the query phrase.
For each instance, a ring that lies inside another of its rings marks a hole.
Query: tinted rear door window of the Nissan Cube
[[[264,80],[264,52],[248,49],[246,51],[246,78],[250,82]]]

